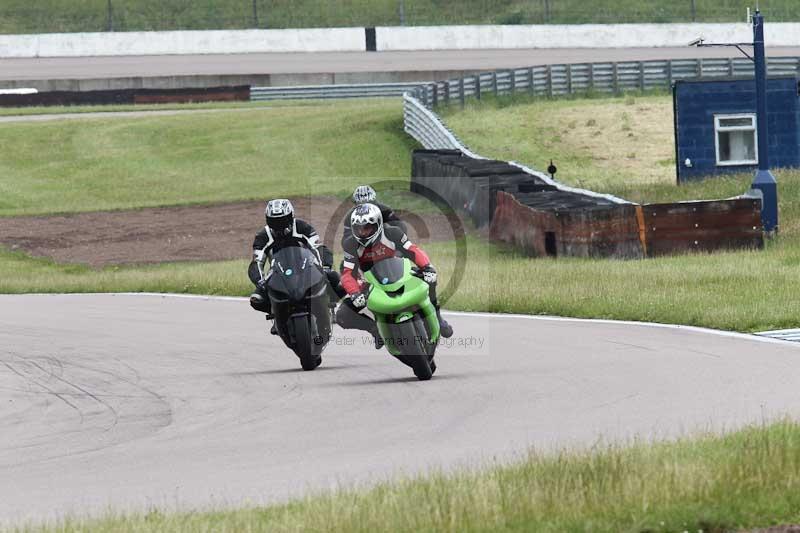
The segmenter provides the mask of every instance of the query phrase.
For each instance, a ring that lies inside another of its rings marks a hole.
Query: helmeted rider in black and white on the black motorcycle
[[[267,314],[271,320],[272,306],[267,294],[267,281],[272,271],[267,261],[272,255],[288,246],[303,246],[313,251],[325,270],[328,282],[339,297],[343,295],[339,284],[339,273],[332,269],[333,253],[319,240],[317,231],[308,222],[295,218],[294,206],[286,199],[275,199],[267,202],[264,211],[266,225],[256,234],[253,240],[253,259],[247,268],[250,281],[256,286],[250,295],[250,306],[256,311]],[[272,325],[272,334],[276,334],[275,325]]]

